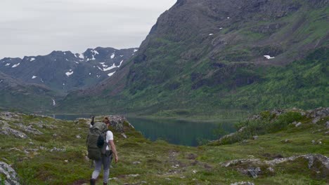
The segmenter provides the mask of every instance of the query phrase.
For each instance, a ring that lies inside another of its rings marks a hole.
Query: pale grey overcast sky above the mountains
[[[0,0],[0,58],[138,47],[176,0]]]

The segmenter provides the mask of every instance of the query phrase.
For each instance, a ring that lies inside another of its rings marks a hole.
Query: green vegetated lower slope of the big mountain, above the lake
[[[303,60],[284,67],[253,67],[237,69],[236,75],[258,76],[257,82],[229,88],[229,79],[211,85],[212,78],[193,90],[193,83],[177,77],[164,85],[152,85],[134,95],[124,90],[120,95],[72,94],[62,102],[60,110],[76,112],[111,111],[147,116],[177,117],[243,117],[247,111],[255,112],[276,107],[312,109],[329,104],[329,50],[319,48]],[[223,69],[224,73],[225,69]],[[188,77],[189,78],[189,77]],[[108,106],[103,109],[107,104]],[[75,109],[71,109],[75,107]]]

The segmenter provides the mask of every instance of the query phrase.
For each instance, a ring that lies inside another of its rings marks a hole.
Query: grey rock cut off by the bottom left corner
[[[0,161],[0,184],[19,185],[18,175],[7,163]]]

